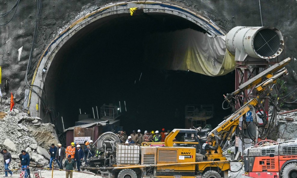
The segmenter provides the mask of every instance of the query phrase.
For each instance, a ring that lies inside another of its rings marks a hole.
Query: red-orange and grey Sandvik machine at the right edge
[[[245,150],[246,176],[255,178],[297,178],[297,140],[262,145]]]

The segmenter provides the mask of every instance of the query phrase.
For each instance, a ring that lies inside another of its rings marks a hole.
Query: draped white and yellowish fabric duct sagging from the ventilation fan
[[[225,36],[184,29],[150,34],[146,42],[145,62],[154,68],[220,76],[235,67],[234,56],[226,49]]]

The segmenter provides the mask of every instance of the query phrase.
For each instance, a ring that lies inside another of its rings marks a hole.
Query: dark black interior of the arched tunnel
[[[185,128],[185,105],[214,104],[214,119],[208,121],[214,128],[231,113],[222,109],[222,102],[223,94],[234,90],[234,73],[209,77],[160,70],[143,62],[145,46],[154,45],[146,44],[146,35],[187,28],[204,32],[192,22],[165,14],[116,15],[80,30],[63,45],[48,69],[44,90],[47,108],[53,109],[41,118],[48,122],[52,116],[62,131],[61,116],[65,128],[72,127],[79,109],[93,118],[92,107],[118,106],[120,101],[119,118],[127,133],[160,131]]]

